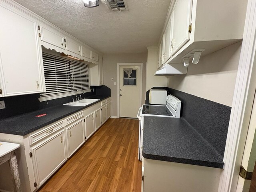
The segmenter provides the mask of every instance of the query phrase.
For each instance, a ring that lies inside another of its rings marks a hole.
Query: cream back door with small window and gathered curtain
[[[126,73],[129,70],[131,72],[130,75]],[[138,108],[141,105],[140,70],[140,65],[123,65],[119,68],[120,117],[137,117]]]

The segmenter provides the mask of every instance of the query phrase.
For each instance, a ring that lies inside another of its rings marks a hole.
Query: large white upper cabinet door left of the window
[[[2,96],[41,93],[42,50],[33,18],[0,6]]]

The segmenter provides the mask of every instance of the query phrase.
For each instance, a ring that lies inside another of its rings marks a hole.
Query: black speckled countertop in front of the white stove
[[[214,168],[224,166],[223,156],[184,118],[144,116],[143,130],[144,158]]]

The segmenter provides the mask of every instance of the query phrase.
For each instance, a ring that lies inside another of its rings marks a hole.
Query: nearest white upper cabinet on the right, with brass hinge
[[[203,57],[242,40],[246,3],[239,0],[232,3],[228,0],[174,0],[168,15],[165,44],[160,43],[164,47],[162,60],[165,64],[183,64],[183,58],[192,61],[195,51],[200,51]]]

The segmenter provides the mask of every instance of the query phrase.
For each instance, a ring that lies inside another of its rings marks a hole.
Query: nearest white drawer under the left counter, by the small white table
[[[29,145],[32,145],[32,144],[46,138],[47,136],[51,135],[52,133],[54,133],[62,128],[64,128],[63,120],[60,122],[57,122],[51,126],[48,126],[47,128],[45,128],[39,132],[36,132],[36,133],[28,136]]]

